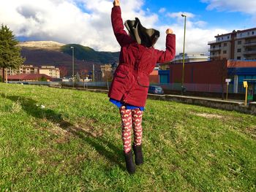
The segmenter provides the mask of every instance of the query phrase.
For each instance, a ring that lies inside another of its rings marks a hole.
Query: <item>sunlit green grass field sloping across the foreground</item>
[[[103,93],[0,83],[1,191],[256,191],[255,116],[148,100],[134,175],[119,118]]]

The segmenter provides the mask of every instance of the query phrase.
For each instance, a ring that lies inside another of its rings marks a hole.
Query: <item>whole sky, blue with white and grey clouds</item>
[[[123,20],[140,18],[160,31],[155,48],[165,50],[165,30],[176,34],[176,54],[207,53],[217,34],[256,27],[256,0],[120,0]],[[20,41],[80,44],[99,51],[119,51],[110,12],[113,0],[0,0],[0,23]]]

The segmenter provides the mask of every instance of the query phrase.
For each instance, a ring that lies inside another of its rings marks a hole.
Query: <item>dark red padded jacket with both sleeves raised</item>
[[[144,107],[148,95],[149,74],[157,63],[171,61],[175,57],[176,36],[167,34],[166,50],[156,50],[135,42],[126,31],[121,9],[115,6],[111,21],[116,39],[121,45],[119,65],[114,73],[108,96],[137,107]]]

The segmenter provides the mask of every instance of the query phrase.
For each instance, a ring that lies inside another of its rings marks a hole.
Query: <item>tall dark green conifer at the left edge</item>
[[[1,25],[0,29],[0,67],[3,68],[3,79],[4,69],[12,68],[18,69],[21,64],[25,61],[25,58],[20,55],[20,47],[17,47],[18,40],[10,31],[7,26]]]

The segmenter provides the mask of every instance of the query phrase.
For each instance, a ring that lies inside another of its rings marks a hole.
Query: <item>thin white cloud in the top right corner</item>
[[[252,15],[256,14],[255,0],[201,0],[208,4],[207,9],[217,9],[219,11],[245,12]]]

